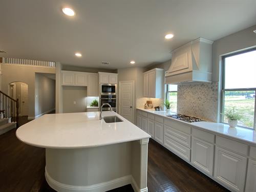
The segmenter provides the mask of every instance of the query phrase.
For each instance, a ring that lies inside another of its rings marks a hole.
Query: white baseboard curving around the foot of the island
[[[107,182],[102,182],[102,183],[97,183],[94,185],[87,185],[87,186],[75,186],[75,185],[67,185],[67,184],[63,184],[60,183],[56,180],[54,180],[53,178],[51,178],[51,176],[48,174],[47,170],[45,169],[45,176],[46,176],[46,181],[47,183],[56,191],[61,191],[61,192],[102,192],[102,191],[107,191],[107,190],[111,190],[114,188],[118,188],[124,185],[128,185],[131,184],[132,181],[134,181],[134,179],[132,179],[131,175],[127,175],[124,177],[120,177],[117,179],[113,179],[111,181],[107,181]],[[136,186],[136,183],[133,183],[132,186]],[[134,189],[135,190],[135,189]],[[143,192],[147,192],[147,188],[146,190],[139,190],[138,187],[135,190],[137,191],[143,191]]]

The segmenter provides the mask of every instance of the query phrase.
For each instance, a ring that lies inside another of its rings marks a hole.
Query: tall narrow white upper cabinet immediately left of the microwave
[[[99,96],[99,83],[97,73],[88,73],[87,96]]]

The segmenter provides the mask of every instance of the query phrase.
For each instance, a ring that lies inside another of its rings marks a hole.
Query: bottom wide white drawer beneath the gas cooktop
[[[164,146],[168,148],[171,152],[178,155],[180,158],[185,161],[190,161],[190,149],[183,146],[182,144],[168,138],[164,137]]]

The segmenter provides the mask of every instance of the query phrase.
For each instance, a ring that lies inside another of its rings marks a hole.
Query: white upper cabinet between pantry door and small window
[[[163,69],[153,69],[145,72],[143,77],[143,96],[162,98],[163,96]]]

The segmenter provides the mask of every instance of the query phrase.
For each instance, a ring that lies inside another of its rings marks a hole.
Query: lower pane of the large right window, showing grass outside
[[[235,107],[236,111],[241,115],[238,125],[253,128],[254,103],[255,91],[225,91],[224,114]],[[224,122],[227,123],[227,121],[224,116]]]

